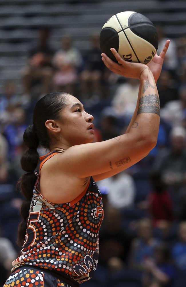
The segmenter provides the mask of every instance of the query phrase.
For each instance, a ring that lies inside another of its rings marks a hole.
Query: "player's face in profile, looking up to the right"
[[[73,96],[67,96],[67,105],[61,111],[60,123],[62,139],[69,146],[87,144],[94,141],[94,117],[84,110],[82,103]]]

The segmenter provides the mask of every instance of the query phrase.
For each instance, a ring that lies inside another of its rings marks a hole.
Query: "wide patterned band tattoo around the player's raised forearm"
[[[159,97],[156,94],[140,98],[138,114],[141,113],[151,113],[160,116],[160,102]]]

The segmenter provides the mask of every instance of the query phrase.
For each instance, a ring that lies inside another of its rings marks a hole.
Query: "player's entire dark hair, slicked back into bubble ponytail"
[[[45,122],[48,119],[56,120],[60,118],[60,111],[66,106],[67,95],[65,92],[54,92],[41,98],[33,111],[33,125],[29,125],[23,135],[23,141],[28,150],[21,157],[21,167],[27,173],[21,176],[17,184],[26,198],[20,208],[20,214],[23,217],[18,227],[17,243],[20,246],[23,246],[25,240],[33,187],[37,179],[34,173],[39,160],[37,147],[39,144],[44,148],[50,147],[50,136],[45,127]]]

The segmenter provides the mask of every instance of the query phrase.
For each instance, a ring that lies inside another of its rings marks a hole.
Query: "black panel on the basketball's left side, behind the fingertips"
[[[120,34],[120,33],[119,33]],[[103,28],[100,33],[100,48],[112,61],[117,62],[110,48],[119,49],[119,36],[113,28]]]

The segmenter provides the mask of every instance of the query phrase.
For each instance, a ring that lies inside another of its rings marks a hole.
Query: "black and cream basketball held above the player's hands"
[[[100,48],[114,62],[110,48],[115,48],[125,61],[147,64],[158,49],[158,34],[147,17],[124,11],[113,15],[102,27]]]

